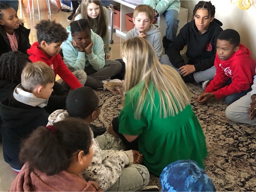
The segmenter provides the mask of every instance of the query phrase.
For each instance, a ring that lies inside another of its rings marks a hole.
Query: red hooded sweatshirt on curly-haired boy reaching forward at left
[[[79,80],[74,76],[71,71],[67,68],[64,61],[61,59],[60,54],[58,53],[55,57],[50,57],[44,53],[44,51],[40,50],[38,42],[34,42],[30,49],[27,50],[30,61],[37,62],[43,61],[49,67],[54,70],[55,76],[58,74],[60,78],[63,79],[64,82],[68,84],[68,86],[73,90],[79,87],[83,87]]]

